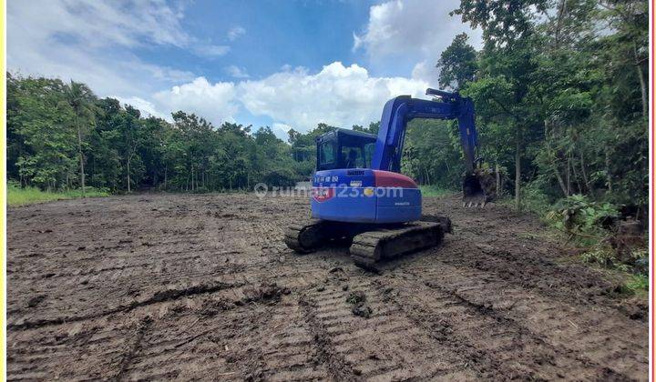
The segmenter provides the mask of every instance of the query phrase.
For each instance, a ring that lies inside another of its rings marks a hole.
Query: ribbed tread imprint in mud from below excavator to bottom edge
[[[354,316],[353,306],[346,302],[351,291],[368,298],[371,317]],[[324,349],[320,356],[338,371],[331,375],[335,379],[475,377],[455,354],[436,347],[433,338],[380,299],[375,286],[366,280],[358,280],[347,290],[340,283],[328,285],[303,298],[310,330]]]

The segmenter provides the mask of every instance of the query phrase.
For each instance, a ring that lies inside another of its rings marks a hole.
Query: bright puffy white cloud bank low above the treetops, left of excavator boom
[[[268,116],[276,136],[286,139],[294,128],[308,131],[323,122],[333,126],[368,126],[378,121],[384,103],[396,95],[425,97],[428,83],[405,77],[374,77],[360,65],[334,62],[316,73],[306,68],[288,69],[261,80],[210,84],[204,77],[152,95],[143,105],[150,115],[167,116],[183,110],[194,112],[218,126],[238,120],[242,109],[254,116]]]

